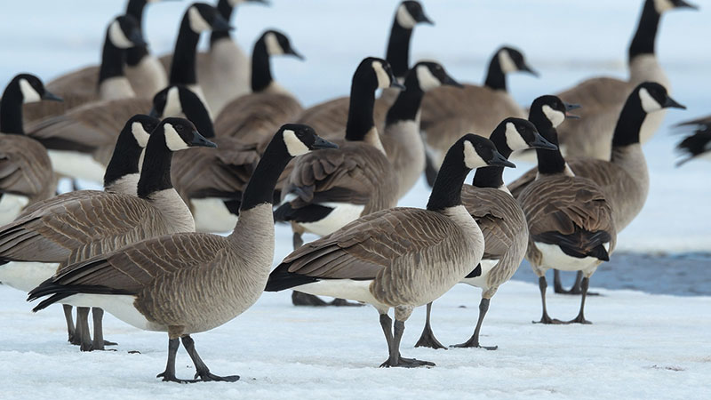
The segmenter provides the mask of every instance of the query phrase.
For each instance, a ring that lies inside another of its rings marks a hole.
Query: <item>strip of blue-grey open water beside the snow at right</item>
[[[563,287],[569,289],[574,272],[562,272]],[[516,271],[513,279],[537,282],[528,261]],[[553,272],[546,274],[548,287],[553,287]],[[616,252],[610,262],[603,262],[590,278],[590,287],[632,289],[655,294],[678,296],[711,296],[711,253],[647,254]]]

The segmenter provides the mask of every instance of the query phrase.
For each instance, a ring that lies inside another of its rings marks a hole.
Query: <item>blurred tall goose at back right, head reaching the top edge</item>
[[[559,131],[561,148],[566,156],[610,160],[617,117],[635,86],[652,81],[671,90],[669,80],[659,66],[654,44],[662,14],[679,8],[696,9],[696,6],[683,0],[644,1],[635,36],[629,44],[627,80],[594,77],[558,94],[565,101],[585,106],[579,113],[579,121],[571,121]],[[641,143],[646,143],[657,132],[665,114],[659,112],[646,118],[640,134]]]

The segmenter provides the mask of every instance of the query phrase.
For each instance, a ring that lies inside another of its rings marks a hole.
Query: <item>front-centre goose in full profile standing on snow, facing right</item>
[[[460,194],[467,173],[486,165],[515,166],[491,140],[465,135],[447,152],[427,210],[373,212],[305,244],[269,275],[265,290],[294,289],[371,304],[387,341],[381,367],[434,366],[400,356],[404,323],[413,308],[442,296],[482,259],[482,231]],[[395,308],[395,324],[389,308]]]

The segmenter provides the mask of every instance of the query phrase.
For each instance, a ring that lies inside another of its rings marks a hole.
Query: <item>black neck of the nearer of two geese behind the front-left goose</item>
[[[157,128],[163,130],[163,126]],[[165,144],[165,134],[154,131],[148,139],[146,156],[143,157],[143,168],[140,171],[138,195],[141,198],[157,191],[172,188],[171,181],[172,151]]]

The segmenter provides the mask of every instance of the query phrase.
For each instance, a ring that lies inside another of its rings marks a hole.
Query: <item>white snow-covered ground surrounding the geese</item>
[[[357,62],[363,56],[384,53],[397,2],[272,3],[269,8],[248,5],[238,10],[236,37],[244,49],[251,49],[253,38],[265,28],[289,34],[308,60],[276,60],[275,75],[310,105],[347,93]],[[670,12],[662,20],[659,59],[674,84],[675,99],[689,110],[668,112],[665,126],[646,146],[651,193],[643,212],[619,236],[619,250],[711,252],[711,164],[691,163],[676,169],[673,147],[679,138],[670,135],[668,128],[711,113],[707,76],[711,52],[708,42],[700,39],[708,35],[711,2],[696,3],[700,12]],[[147,36],[155,52],[172,48],[187,4],[149,6]],[[417,28],[413,60],[434,58],[460,81],[482,82],[491,52],[500,44],[514,44],[541,73],[539,79],[509,79],[511,92],[525,104],[587,76],[626,76],[626,49],[641,1],[425,0],[424,4],[436,25]],[[3,2],[0,82],[20,71],[48,80],[97,62],[104,25],[123,7],[124,0]],[[528,167],[520,164],[507,172],[507,180]],[[421,207],[427,196],[428,189],[420,181],[401,204]],[[278,262],[291,250],[289,229],[277,226],[276,239]],[[707,260],[699,259],[699,265],[711,267]],[[703,266],[695,271],[707,279]],[[664,280],[665,274],[661,266],[650,279]],[[531,324],[540,312],[537,285],[504,285],[491,302],[483,328],[483,344],[498,344],[495,352],[411,348],[424,319],[424,310],[416,310],[407,325],[403,355],[437,364],[434,369],[417,371],[376,368],[386,357],[386,347],[372,308],[292,308],[288,293],[267,293],[235,321],[196,335],[196,346],[212,372],[238,373],[243,379],[237,384],[185,387],[160,385],[153,378],[164,369],[164,335],[140,332],[107,316],[106,335],[120,343],[118,351],[80,354],[65,341],[60,308],[32,315],[22,293],[0,285],[0,320],[4,322],[0,324],[0,363],[4,365],[0,397],[695,398],[708,392],[710,297],[595,291],[603,293],[588,300],[587,316],[595,324],[541,326]],[[553,316],[575,316],[578,298],[549,295],[548,299]],[[433,324],[443,343],[468,338],[478,301],[478,290],[458,286],[435,303]],[[462,305],[467,309],[460,309]],[[140,354],[128,354],[130,350]],[[192,376],[182,350],[178,365],[180,377]]]

